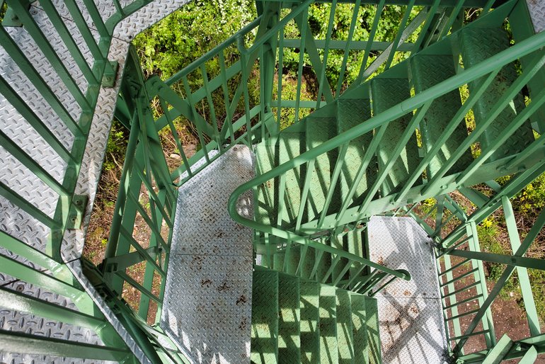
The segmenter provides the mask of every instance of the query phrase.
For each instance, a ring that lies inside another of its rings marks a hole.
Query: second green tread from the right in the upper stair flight
[[[415,55],[411,57],[411,73],[415,92],[420,93],[454,76],[456,70],[454,69],[452,55]],[[435,146],[436,141],[442,137],[445,128],[459,108],[461,108],[461,100],[457,89],[433,101],[420,122],[420,133],[425,152],[429,152]],[[466,123],[462,121],[430,161],[428,176],[435,176],[467,136]],[[471,157],[471,151],[468,149],[457,159],[454,166],[449,169],[448,174],[464,171],[472,161],[473,157]]]

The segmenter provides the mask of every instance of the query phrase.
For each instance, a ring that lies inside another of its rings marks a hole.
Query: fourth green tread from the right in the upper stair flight
[[[361,99],[343,99],[338,100],[338,118],[337,132],[338,134],[352,129],[360,123],[371,118],[371,106],[368,98]],[[365,135],[356,137],[348,143],[348,150],[345,154],[343,169],[340,172],[340,196],[342,200],[348,195],[348,191],[352,186],[357,175],[357,170],[365,156],[365,150],[373,139],[373,132],[368,132]],[[362,203],[365,198],[365,191],[372,186],[377,179],[377,156],[373,156],[369,162],[369,166],[365,174],[356,188],[356,193],[352,198],[351,205]]]

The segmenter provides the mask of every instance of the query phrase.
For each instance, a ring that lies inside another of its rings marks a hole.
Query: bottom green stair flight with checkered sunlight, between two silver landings
[[[376,300],[311,280],[253,273],[253,363],[379,363]]]

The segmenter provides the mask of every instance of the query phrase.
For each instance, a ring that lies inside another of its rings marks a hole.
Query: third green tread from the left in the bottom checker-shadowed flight
[[[320,285],[319,283],[301,280],[299,283],[301,296],[301,363],[320,363]]]

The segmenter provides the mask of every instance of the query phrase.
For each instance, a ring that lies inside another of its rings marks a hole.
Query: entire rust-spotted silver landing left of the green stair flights
[[[253,232],[227,201],[251,178],[253,155],[237,146],[178,192],[161,327],[195,363],[250,362]],[[241,215],[251,201],[241,196]]]

